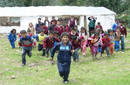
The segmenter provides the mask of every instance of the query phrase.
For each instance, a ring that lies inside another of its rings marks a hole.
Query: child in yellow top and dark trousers
[[[38,51],[43,51],[42,56],[45,56],[45,50],[43,49],[43,40],[45,39],[44,31],[42,30],[40,34],[36,36],[36,40],[38,41]]]

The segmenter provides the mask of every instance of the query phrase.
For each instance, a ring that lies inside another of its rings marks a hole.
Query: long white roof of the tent
[[[0,7],[0,16],[115,15],[105,7],[39,6]]]

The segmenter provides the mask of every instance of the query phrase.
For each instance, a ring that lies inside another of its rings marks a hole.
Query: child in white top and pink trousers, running
[[[84,27],[81,28],[80,38],[81,38],[81,49],[82,49],[83,56],[86,56],[87,32]]]

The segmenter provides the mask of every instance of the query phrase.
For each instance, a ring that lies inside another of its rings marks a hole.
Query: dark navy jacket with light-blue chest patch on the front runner
[[[58,56],[57,56],[58,62],[60,62],[60,63],[71,62],[72,45],[70,42],[68,42],[66,46],[64,46],[64,44],[62,42],[57,43],[57,45],[52,48],[52,51],[51,51],[52,58],[54,57],[54,54],[57,50],[59,51]]]

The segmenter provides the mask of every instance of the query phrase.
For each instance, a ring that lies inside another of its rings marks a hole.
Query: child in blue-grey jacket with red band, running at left
[[[23,53],[22,53],[22,65],[26,65],[26,54],[28,54],[29,57],[32,56],[32,44],[33,44],[33,40],[30,36],[27,35],[27,32],[25,30],[22,30],[21,32],[21,38],[20,38],[20,46],[23,49]]]

